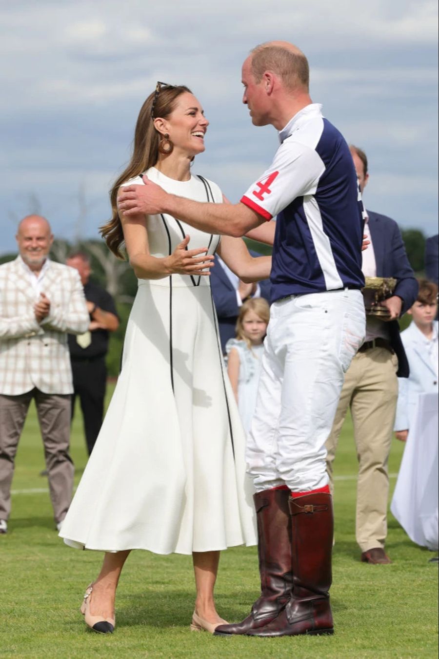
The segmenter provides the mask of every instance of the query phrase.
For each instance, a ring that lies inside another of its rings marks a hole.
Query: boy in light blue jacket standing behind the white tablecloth
[[[398,378],[400,387],[396,407],[395,436],[407,440],[419,393],[438,393],[438,287],[421,279],[417,301],[407,311],[413,320],[401,332],[401,340],[409,362],[408,378]]]

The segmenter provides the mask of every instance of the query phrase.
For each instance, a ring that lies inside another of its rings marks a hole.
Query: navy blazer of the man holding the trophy
[[[367,211],[369,216],[369,229],[376,261],[377,277],[394,277],[397,280],[394,295],[402,299],[401,316],[405,314],[418,295],[418,283],[409,264],[400,228],[394,219]],[[398,377],[408,378],[409,362],[405,355],[400,337],[400,324],[398,320],[388,323],[390,330],[390,343],[398,357]]]

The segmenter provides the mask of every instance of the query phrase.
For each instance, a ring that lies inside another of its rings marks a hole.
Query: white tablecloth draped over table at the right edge
[[[420,393],[390,509],[409,538],[436,551],[438,517],[437,393]]]

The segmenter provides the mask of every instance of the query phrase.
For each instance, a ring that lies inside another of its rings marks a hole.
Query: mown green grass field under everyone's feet
[[[400,465],[394,442],[390,473]],[[86,463],[80,418],[72,432],[76,480]],[[0,536],[0,656],[151,658],[436,657],[437,565],[389,515],[392,565],[359,562],[354,538],[356,458],[348,419],[336,460],[336,545],[331,590],[333,637],[222,638],[191,633],[194,602],[188,556],[133,552],[118,588],[116,631],[88,631],[79,614],[101,554],[66,547],[54,529],[43,451],[32,409],[18,449],[9,533]],[[392,476],[394,488],[396,478]],[[90,501],[90,505],[93,502]],[[219,613],[242,619],[258,594],[255,548],[224,552],[217,584]]]

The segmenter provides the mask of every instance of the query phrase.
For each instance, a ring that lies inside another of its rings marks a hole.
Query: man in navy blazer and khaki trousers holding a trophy
[[[369,174],[365,153],[351,146],[361,192]],[[384,551],[387,535],[388,456],[398,400],[398,377],[407,378],[409,364],[400,337],[398,318],[415,302],[418,284],[405,254],[397,223],[367,211],[365,235],[371,244],[363,252],[363,274],[394,277],[394,294],[384,302],[390,319],[367,316],[365,342],[353,358],[331,434],[326,442],[326,466],[332,482],[338,436],[351,409],[359,461],[356,538],[365,563],[390,563]]]

